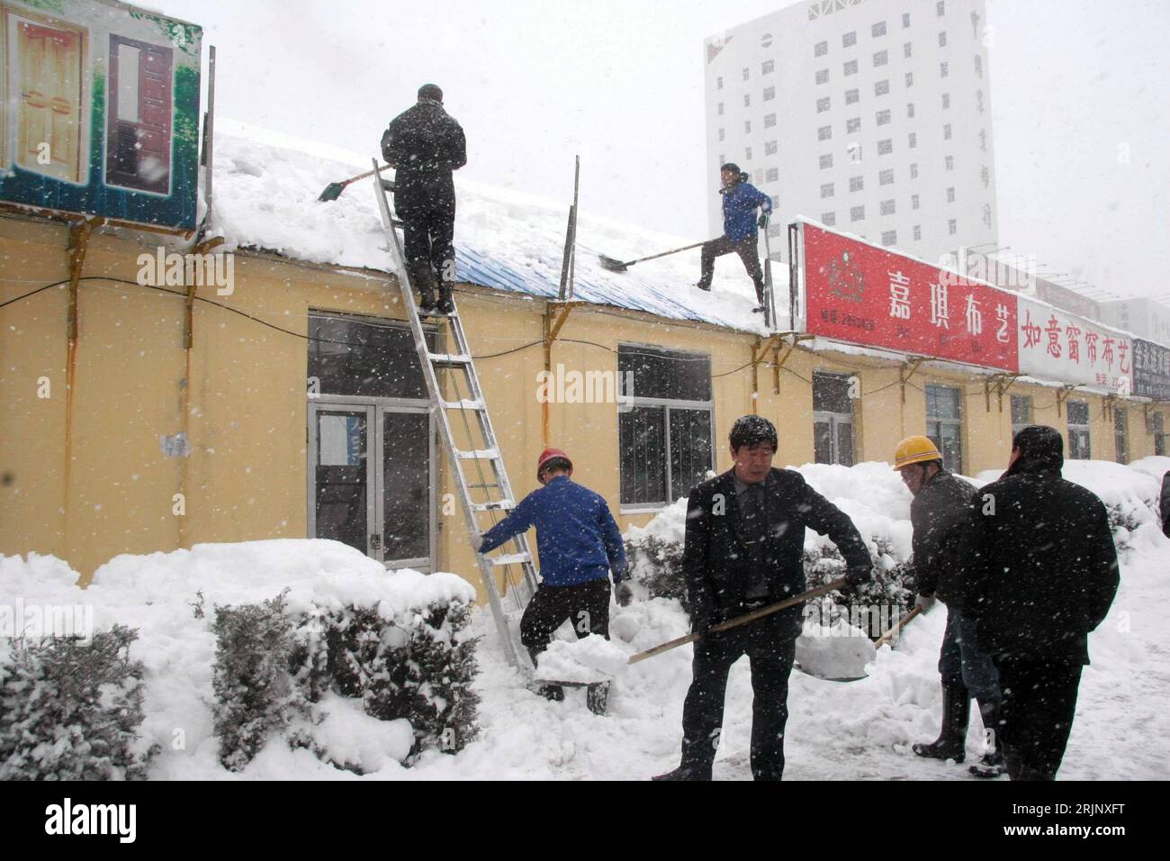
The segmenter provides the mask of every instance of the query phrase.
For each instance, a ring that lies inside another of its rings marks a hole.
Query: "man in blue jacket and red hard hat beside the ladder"
[[[514,535],[536,526],[541,555],[541,585],[524,608],[521,643],[532,663],[567,619],[577,638],[597,634],[610,638],[610,570],[622,607],[633,597],[621,532],[605,499],[573,481],[573,464],[559,449],[545,449],[536,465],[543,487],[529,493],[507,518],[483,534],[480,553],[488,553]],[[605,713],[610,683],[589,685],[591,711]],[[560,685],[545,685],[549,699],[564,699]]]

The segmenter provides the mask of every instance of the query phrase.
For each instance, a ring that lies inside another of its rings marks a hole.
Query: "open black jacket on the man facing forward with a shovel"
[[[772,469],[764,480],[769,529],[763,559],[773,601],[799,595],[807,588],[803,562],[805,527],[827,534],[851,570],[870,570],[873,560],[853,521],[810,487],[799,472]],[[751,562],[739,538],[734,469],[690,490],[682,569],[694,630],[703,630],[745,611]],[[803,608],[798,604],[778,615],[783,617],[779,620],[782,628],[797,637]]]

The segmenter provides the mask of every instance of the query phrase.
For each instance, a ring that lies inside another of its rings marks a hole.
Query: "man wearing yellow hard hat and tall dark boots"
[[[978,777],[998,777],[1004,771],[999,746],[999,713],[1003,699],[999,676],[991,655],[979,648],[975,623],[963,619],[961,596],[962,559],[959,545],[966,522],[966,505],[976,488],[943,466],[943,456],[929,437],[907,437],[894,453],[894,469],[914,501],[914,572],[923,613],[935,600],[947,604],[947,633],[938,654],[938,675],[943,684],[943,719],[938,739],[915,744],[914,752],[931,759],[962,763],[970,719],[970,698],[979,703],[984,729],[992,730],[991,747],[983,761],[971,766]]]

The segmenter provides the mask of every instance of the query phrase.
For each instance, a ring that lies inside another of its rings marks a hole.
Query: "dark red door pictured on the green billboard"
[[[172,49],[110,36],[105,182],[171,190]]]

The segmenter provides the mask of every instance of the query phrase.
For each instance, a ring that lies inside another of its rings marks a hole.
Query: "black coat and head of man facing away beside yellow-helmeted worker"
[[[997,658],[1087,664],[1088,633],[1117,590],[1117,553],[1101,500],[1060,477],[1052,428],[1017,435],[1019,459],[977,491],[963,541],[963,616]]]

